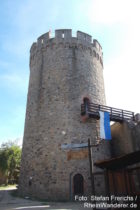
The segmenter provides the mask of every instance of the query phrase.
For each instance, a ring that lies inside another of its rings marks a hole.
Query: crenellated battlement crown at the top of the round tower
[[[37,42],[34,42],[31,46],[31,54],[34,54],[36,51],[54,46],[64,46],[66,47],[75,47],[77,49],[88,50],[90,55],[97,57],[97,60],[103,65],[103,53],[100,43],[93,39],[92,36],[81,31],[76,32],[76,36],[72,35],[71,29],[57,29],[55,33],[52,34],[51,31],[41,35]]]

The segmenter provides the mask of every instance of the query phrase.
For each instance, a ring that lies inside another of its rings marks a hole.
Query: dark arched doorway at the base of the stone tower
[[[84,178],[81,174],[76,174],[73,177],[74,184],[74,194],[83,195],[84,194]]]

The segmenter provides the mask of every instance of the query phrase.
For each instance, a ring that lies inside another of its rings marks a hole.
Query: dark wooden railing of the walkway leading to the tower
[[[110,120],[115,122],[134,120],[134,112],[117,109],[109,106],[94,104],[85,102],[81,105],[81,115],[88,115],[90,118],[99,119],[99,111],[108,112],[110,114]]]

